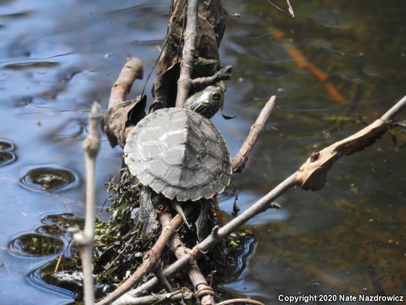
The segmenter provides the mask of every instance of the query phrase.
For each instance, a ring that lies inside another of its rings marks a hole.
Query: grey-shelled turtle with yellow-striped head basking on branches
[[[200,106],[192,96],[193,103],[185,103],[184,108],[156,110],[140,120],[127,137],[124,161],[143,186],[139,222],[144,236],[156,228],[151,190],[170,199],[188,225],[181,202],[199,202],[200,214],[204,214],[208,211],[206,200],[222,193],[230,183],[230,152],[209,119],[222,107],[224,92],[214,86],[203,91]],[[200,215],[198,222],[202,219]]]

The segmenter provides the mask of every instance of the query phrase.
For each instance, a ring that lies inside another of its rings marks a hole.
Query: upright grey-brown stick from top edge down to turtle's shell
[[[188,0],[186,31],[182,50],[182,64],[178,80],[178,93],[176,96],[176,107],[178,108],[182,108],[189,96],[189,91],[193,83],[191,75],[193,70],[194,52],[196,50],[197,7],[198,0]]]

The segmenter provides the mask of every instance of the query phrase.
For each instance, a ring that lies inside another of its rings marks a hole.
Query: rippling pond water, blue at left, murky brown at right
[[[402,1],[292,5],[295,19],[262,0],[224,1],[230,13],[242,14],[227,18],[221,46],[223,63],[233,65],[225,113],[238,117],[213,118],[232,155],[266,100],[276,94],[278,105],[243,174],[233,177],[242,210],[314,150],[359,130],[360,121],[372,122],[406,94]],[[107,108],[127,53],[142,58],[149,70],[166,33],[168,6],[168,1],[1,2],[2,304],[73,299],[70,291],[42,282],[36,270],[60,253],[70,254],[65,218],[75,214],[66,212],[83,215],[86,115],[94,100]],[[275,31],[285,39],[277,39]],[[342,103],[309,69],[297,65],[287,53],[292,47],[328,74]],[[142,85],[133,86],[131,97]],[[264,303],[277,301],[279,294],[406,294],[405,142],[404,130],[394,130],[337,162],[323,190],[291,190],[278,199],[282,209],[254,218],[249,228],[255,240],[238,268],[216,279],[224,284],[218,291]],[[103,139],[97,160],[99,208],[106,198],[103,182],[118,173],[121,153]],[[36,168],[64,169],[73,180],[67,174],[56,181],[61,188],[51,188],[42,177],[24,188],[21,178]],[[232,190],[220,200],[230,213]],[[47,247],[54,239],[58,247]],[[33,243],[30,247],[45,246],[28,256],[24,240]]]

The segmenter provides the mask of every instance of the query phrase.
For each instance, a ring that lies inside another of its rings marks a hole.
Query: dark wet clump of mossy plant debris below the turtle
[[[124,282],[141,264],[142,255],[155,243],[161,231],[160,226],[154,234],[143,239],[137,229],[137,217],[139,207],[139,195],[142,186],[134,184],[134,177],[127,169],[123,170],[118,182],[111,178],[107,183],[108,192],[111,193],[109,201],[111,212],[107,222],[97,221],[94,235],[94,273],[96,283],[108,285],[106,292],[113,291]],[[159,211],[157,211],[159,214]],[[175,215],[175,212],[173,213]],[[189,223],[194,224],[199,215],[196,208],[189,216]],[[210,209],[207,220],[208,233],[217,224],[215,211]],[[196,245],[197,235],[195,228],[187,228],[182,225],[178,230],[186,247]],[[244,248],[245,239],[250,238],[245,232],[237,232],[231,237],[224,239],[216,249],[201,257],[197,263],[204,275],[211,275],[216,270],[216,275],[221,275],[230,266],[238,265],[237,254]],[[176,260],[170,250],[165,249],[161,255],[163,266],[166,267]],[[150,276],[144,277],[143,281],[149,280]],[[177,282],[172,281],[174,287],[190,287],[190,281],[186,274],[182,275]]]

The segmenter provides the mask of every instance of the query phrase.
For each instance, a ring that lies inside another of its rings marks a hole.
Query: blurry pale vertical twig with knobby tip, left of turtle
[[[89,135],[83,143],[86,163],[86,219],[83,231],[74,234],[76,245],[79,248],[83,265],[83,287],[85,304],[94,304],[94,289],[92,276],[93,258],[93,230],[94,230],[94,206],[95,206],[95,167],[96,156],[100,149],[100,105],[93,103],[89,114]]]

